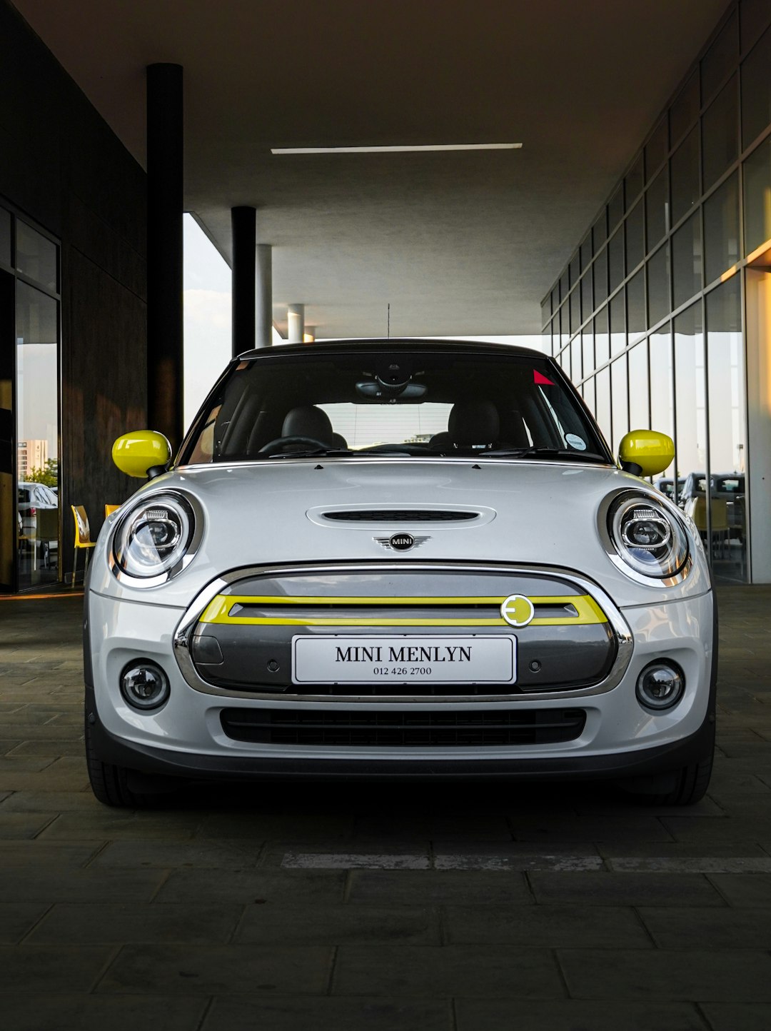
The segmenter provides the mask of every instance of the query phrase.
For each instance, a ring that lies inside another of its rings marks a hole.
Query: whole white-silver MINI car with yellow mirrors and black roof
[[[105,523],[86,592],[94,793],[180,781],[613,778],[706,791],[714,601],[693,523],[560,367],[422,340],[235,359]]]

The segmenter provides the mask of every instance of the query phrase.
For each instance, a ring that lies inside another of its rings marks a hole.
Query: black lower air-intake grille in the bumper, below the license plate
[[[221,720],[228,737],[261,744],[474,747],[573,741],[583,730],[586,713],[578,708],[448,712],[227,708]]]

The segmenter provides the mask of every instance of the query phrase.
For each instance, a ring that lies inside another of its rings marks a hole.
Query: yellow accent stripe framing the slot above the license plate
[[[561,617],[535,617],[528,626],[531,627],[558,627],[558,626],[590,626],[598,623],[607,623],[605,613],[590,595],[549,595],[542,597],[531,597],[534,605],[572,605],[576,616]],[[292,626],[292,627],[505,627],[508,626],[502,617],[479,618],[456,618],[456,619],[367,619],[366,617],[275,617],[275,616],[231,616],[231,609],[235,605],[421,605],[423,607],[431,605],[501,605],[505,598],[353,598],[353,597],[288,597],[286,595],[277,598],[273,596],[254,595],[217,595],[204,609],[201,616],[201,623],[227,624],[230,626]],[[524,628],[522,628],[524,629]]]

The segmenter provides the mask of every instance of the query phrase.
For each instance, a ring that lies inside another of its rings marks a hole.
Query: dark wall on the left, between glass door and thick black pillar
[[[0,203],[62,243],[64,569],[70,504],[92,530],[138,486],[114,437],[146,419],[146,177],[7,0],[0,0]]]

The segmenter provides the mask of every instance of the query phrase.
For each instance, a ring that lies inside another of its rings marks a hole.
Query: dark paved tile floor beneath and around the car
[[[80,599],[0,601],[14,1031],[771,1027],[771,588],[724,589],[709,795],[266,784],[108,809]]]

